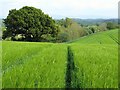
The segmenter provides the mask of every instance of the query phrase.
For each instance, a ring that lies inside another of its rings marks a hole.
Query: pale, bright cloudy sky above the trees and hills
[[[70,18],[117,18],[119,0],[0,0],[0,18],[10,9],[23,6],[40,8],[55,19]]]

